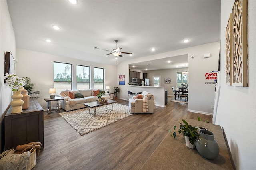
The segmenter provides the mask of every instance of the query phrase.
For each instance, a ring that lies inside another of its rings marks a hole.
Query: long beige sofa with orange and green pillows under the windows
[[[62,97],[64,97],[64,100],[61,101],[62,109],[64,109],[65,111],[81,109],[81,108],[86,107],[86,106],[84,106],[84,103],[97,101],[98,97],[93,95],[94,94],[93,90],[96,90],[96,89],[70,90],[70,91],[73,91],[74,93],[80,92],[84,96],[84,98],[74,98],[74,99],[71,99],[68,96],[68,90],[61,91],[60,95]],[[105,95],[103,95],[102,97],[104,97],[105,99],[110,99],[110,95],[108,95],[108,93],[105,93]]]

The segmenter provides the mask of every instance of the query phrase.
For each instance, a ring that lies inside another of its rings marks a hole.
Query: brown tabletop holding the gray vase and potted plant
[[[192,126],[204,127],[214,133],[215,140],[218,142],[220,153],[214,160],[208,160],[202,157],[196,149],[190,149],[185,144],[185,138],[182,134],[177,134],[176,139],[166,135],[150,158],[142,166],[142,170],[233,170],[230,155],[222,130],[219,125],[196,121],[194,119],[185,119]],[[176,130],[180,127],[178,120]],[[173,131],[173,127],[172,127]]]

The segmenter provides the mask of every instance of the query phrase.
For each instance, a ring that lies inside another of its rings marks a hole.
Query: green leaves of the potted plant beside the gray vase
[[[183,120],[183,123],[180,123],[180,129],[178,130],[179,134],[183,134],[183,136],[188,136],[189,138],[189,142],[191,144],[194,144],[196,142],[196,139],[199,137],[198,134],[198,127],[194,127],[189,125],[185,120]],[[169,130],[170,132],[170,136],[172,136],[174,139],[176,138],[176,125],[174,126],[174,132],[172,133],[171,130]]]

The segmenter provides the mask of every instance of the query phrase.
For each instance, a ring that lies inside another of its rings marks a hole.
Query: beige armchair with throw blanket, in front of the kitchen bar
[[[155,107],[154,96],[147,91],[143,91],[141,95],[143,97],[142,99],[135,99],[136,96],[133,96],[132,99],[129,99],[130,112],[131,113],[153,113],[154,107]],[[145,98],[147,98],[147,100]],[[146,109],[147,111],[145,111],[145,109],[143,110],[143,100],[148,101],[148,103],[144,103],[144,105],[147,104],[147,107],[148,107],[148,109]]]

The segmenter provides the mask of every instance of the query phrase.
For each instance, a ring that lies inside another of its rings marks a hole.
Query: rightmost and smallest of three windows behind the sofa
[[[104,89],[104,69],[93,68],[93,88],[94,89]]]

